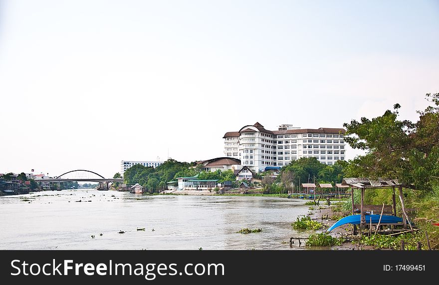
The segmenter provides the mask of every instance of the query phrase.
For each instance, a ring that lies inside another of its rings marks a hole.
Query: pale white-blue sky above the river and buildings
[[[0,173],[223,156],[439,92],[437,0],[0,0]],[[347,148],[346,157],[360,154]]]

